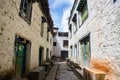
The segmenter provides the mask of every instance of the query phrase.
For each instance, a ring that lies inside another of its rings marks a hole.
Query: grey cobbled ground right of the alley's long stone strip
[[[79,80],[79,79],[65,62],[60,62],[56,75],[56,80]]]

